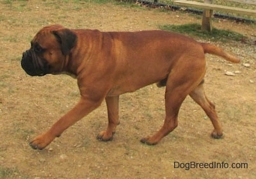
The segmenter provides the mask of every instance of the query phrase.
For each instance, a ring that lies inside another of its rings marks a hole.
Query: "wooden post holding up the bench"
[[[204,0],[204,3],[212,3],[212,0]],[[202,31],[212,31],[212,10],[204,10],[203,19],[202,19]]]

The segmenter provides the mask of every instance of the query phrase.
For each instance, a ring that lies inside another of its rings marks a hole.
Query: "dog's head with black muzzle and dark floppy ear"
[[[31,41],[31,48],[23,52],[21,66],[31,76],[61,73],[76,41],[70,29],[60,25],[44,27]]]

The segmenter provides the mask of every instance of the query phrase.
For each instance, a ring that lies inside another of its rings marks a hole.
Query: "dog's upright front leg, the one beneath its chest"
[[[116,97],[106,97],[106,104],[108,107],[108,128],[103,130],[97,136],[99,141],[111,141],[113,139],[113,134],[116,130],[116,125],[119,124],[118,120],[118,104],[119,96]]]

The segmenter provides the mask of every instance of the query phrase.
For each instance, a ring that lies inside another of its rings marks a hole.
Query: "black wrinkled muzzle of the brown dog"
[[[23,52],[21,66],[28,75],[43,76],[49,74],[49,65],[45,59],[36,56],[33,50]]]

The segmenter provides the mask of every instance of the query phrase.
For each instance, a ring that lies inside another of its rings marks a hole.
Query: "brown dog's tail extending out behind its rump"
[[[211,45],[210,43],[201,43],[201,44],[202,44],[202,47],[204,48],[205,53],[221,56],[227,61],[231,61],[233,63],[240,62],[240,59],[237,58],[236,55],[232,54],[231,52],[225,52],[220,47],[216,47],[215,45]]]

